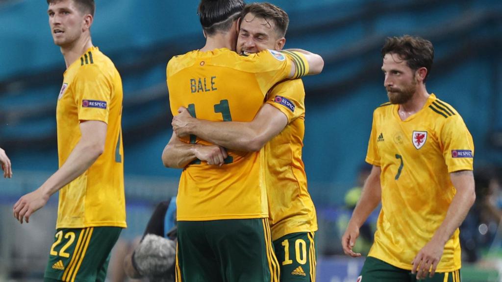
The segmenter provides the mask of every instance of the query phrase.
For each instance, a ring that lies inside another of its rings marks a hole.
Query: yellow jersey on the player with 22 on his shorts
[[[126,227],[121,116],[120,75],[91,47],[64,73],[56,109],[59,167],[80,140],[81,121],[107,123],[106,142],[94,164],[59,191],[56,228]]]

